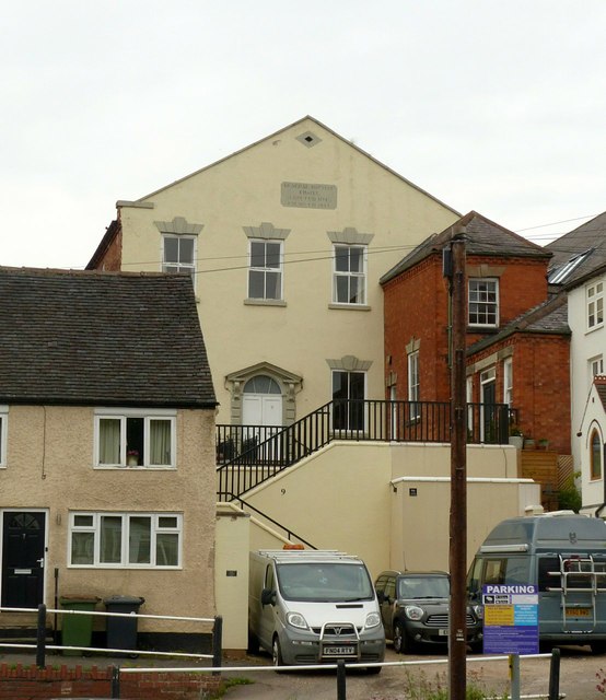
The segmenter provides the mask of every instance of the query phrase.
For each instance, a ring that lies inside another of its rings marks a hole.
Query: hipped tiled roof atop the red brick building
[[[490,255],[493,257],[541,257],[550,258],[551,253],[526,238],[509,231],[503,226],[490,221],[486,217],[470,211],[468,214],[456,221],[442,233],[433,234],[426,238],[411,253],[403,258],[395,267],[381,278],[384,284],[408,270],[432,253],[446,247],[453,235],[465,226],[466,254],[467,255]]]

